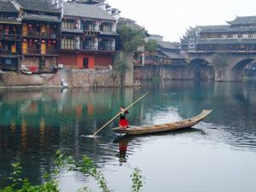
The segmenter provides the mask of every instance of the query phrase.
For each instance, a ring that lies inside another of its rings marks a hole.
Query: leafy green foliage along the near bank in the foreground
[[[6,186],[3,189],[0,189],[2,192],[59,192],[59,181],[57,179],[58,174],[61,172],[61,168],[67,169],[69,171],[78,171],[84,173],[85,177],[93,177],[99,189],[102,189],[102,192],[111,192],[112,189],[109,189],[108,183],[102,172],[95,166],[93,161],[84,156],[82,163],[78,163],[71,156],[66,156],[61,154],[61,151],[56,151],[55,153],[55,171],[52,176],[49,173],[44,174],[44,179],[46,180],[41,185],[32,185],[26,178],[22,178],[20,175],[22,173],[22,168],[20,163],[12,164],[13,172],[10,174],[9,186]],[[131,174],[132,179],[132,192],[139,192],[143,187],[143,177],[142,172],[137,168],[134,169],[134,172]],[[84,186],[82,189],[78,190],[79,192],[91,191],[88,187]]]

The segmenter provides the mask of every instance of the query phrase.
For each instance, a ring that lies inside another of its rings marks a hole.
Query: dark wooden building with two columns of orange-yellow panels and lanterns
[[[55,73],[60,53],[61,9],[48,0],[15,0],[21,20],[21,65],[32,73]]]

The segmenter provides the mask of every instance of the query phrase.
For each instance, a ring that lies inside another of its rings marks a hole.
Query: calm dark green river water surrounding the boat
[[[119,137],[109,130],[92,139],[119,105],[150,94],[130,110],[132,125],[185,119],[213,112],[194,129],[146,137]],[[256,190],[256,84],[166,82],[142,88],[97,90],[0,90],[0,186],[10,164],[41,183],[53,170],[55,150],[95,160],[115,191],[131,191],[130,174],[142,170],[145,192],[254,192]],[[122,148],[120,151],[119,148]],[[126,151],[125,151],[126,148]],[[61,191],[84,184],[79,172],[62,172]]]

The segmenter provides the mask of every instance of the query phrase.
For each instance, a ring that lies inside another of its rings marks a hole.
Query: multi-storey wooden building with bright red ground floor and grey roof
[[[116,20],[95,5],[64,3],[60,63],[108,68],[115,54]]]

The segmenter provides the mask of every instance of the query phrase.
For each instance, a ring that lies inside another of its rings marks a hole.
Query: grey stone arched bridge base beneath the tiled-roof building
[[[188,66],[185,79],[241,81],[243,69],[256,61],[256,53],[183,54]]]

